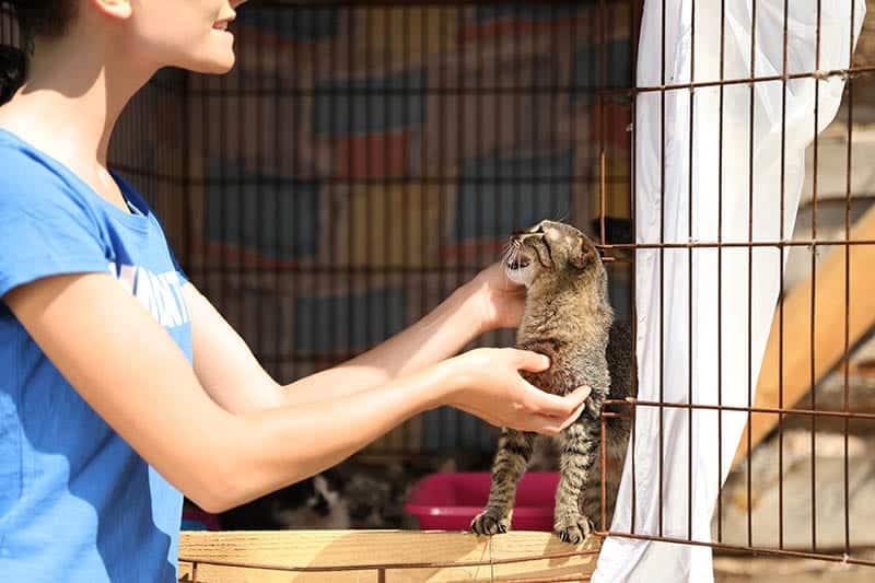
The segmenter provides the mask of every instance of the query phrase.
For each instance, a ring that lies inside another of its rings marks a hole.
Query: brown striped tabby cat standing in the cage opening
[[[581,417],[552,438],[560,455],[553,530],[563,541],[576,545],[593,530],[595,521],[602,520],[602,404],[608,395],[614,399],[633,395],[631,335],[626,326],[614,324],[607,273],[598,252],[573,226],[542,221],[514,233],[506,273],[527,288],[517,347],[547,354],[551,360],[550,369],[523,373],[525,378],[557,395],[582,385],[592,388]],[[615,468],[626,455],[629,430],[627,418],[607,421],[607,455]],[[535,433],[502,429],[492,464],[489,502],[471,522],[475,533],[493,535],[510,528],[516,486],[532,458],[535,438]],[[608,524],[616,493],[616,479],[609,478]]]

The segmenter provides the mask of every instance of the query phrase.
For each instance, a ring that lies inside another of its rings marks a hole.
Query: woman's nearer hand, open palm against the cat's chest
[[[555,435],[581,415],[590,387],[559,397],[533,386],[520,371],[550,368],[536,352],[513,348],[478,348],[446,361],[458,387],[448,405],[499,427]]]

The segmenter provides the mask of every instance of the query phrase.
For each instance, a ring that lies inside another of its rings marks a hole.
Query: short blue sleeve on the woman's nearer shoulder
[[[18,154],[18,155],[15,155]],[[108,272],[89,209],[50,170],[20,153],[0,153],[0,298],[63,273]]]

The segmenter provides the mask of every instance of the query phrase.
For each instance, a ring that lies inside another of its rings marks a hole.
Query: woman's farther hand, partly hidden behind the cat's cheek
[[[526,289],[508,278],[502,263],[480,271],[468,284],[480,306],[480,331],[516,328],[526,305]]]

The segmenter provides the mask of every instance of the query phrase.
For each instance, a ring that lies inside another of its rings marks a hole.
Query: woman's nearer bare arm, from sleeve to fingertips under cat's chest
[[[586,398],[548,395],[518,375],[544,370],[545,357],[479,349],[342,399],[235,415],[210,397],[166,330],[109,275],[49,277],[3,300],[95,411],[213,512],[311,476],[431,407],[555,433]]]

